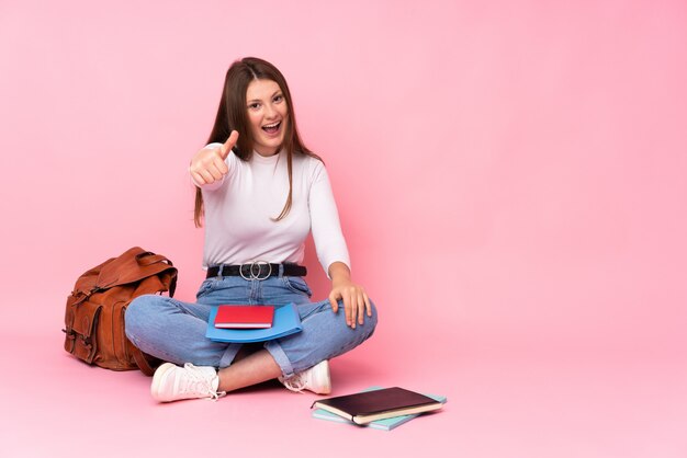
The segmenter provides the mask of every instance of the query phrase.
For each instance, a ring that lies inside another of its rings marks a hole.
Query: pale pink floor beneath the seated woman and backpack
[[[449,399],[443,411],[383,432],[312,419],[317,397],[277,382],[217,402],[156,404],[148,378],[90,368],[60,345],[58,333],[0,339],[1,456],[687,456],[687,368],[669,358],[437,348],[371,360],[379,348],[370,341],[333,363],[334,394],[401,385]]]

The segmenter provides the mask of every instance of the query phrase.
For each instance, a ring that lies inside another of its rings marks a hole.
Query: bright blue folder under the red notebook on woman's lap
[[[221,329],[215,328],[217,307],[210,311],[205,336],[217,342],[263,342],[301,332],[301,317],[294,304],[274,307],[274,320],[267,329]]]

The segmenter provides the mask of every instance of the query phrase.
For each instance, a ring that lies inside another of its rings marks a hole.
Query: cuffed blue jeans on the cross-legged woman
[[[351,329],[346,324],[341,301],[335,313],[329,300],[311,302],[311,296],[309,287],[301,277],[209,278],[201,284],[195,304],[158,295],[134,299],[126,309],[126,336],[143,352],[170,363],[224,368],[232,364],[241,344],[205,337],[212,306],[294,302],[303,331],[263,343],[282,375],[289,378],[354,348],[372,335],[376,325],[374,305],[372,317],[365,314],[364,324]]]

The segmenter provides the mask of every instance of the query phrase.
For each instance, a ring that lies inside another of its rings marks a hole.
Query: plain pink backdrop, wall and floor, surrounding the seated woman
[[[3,0],[2,455],[91,449],[100,422],[129,424],[131,456],[228,437],[232,456],[684,457],[686,24],[667,0]],[[193,297],[185,167],[248,55],[285,75],[380,308],[335,394],[401,385],[443,412],[361,431],[269,383],[162,407],[61,351],[76,277],[132,245]]]

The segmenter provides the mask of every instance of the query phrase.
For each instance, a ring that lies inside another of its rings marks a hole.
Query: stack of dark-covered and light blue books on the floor
[[[420,394],[399,387],[367,390],[320,399],[312,405],[315,419],[391,431],[421,413],[439,410],[446,396]]]

